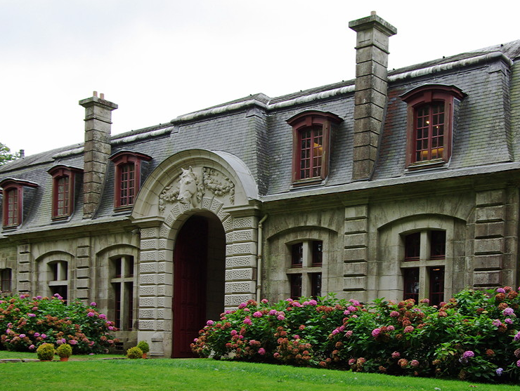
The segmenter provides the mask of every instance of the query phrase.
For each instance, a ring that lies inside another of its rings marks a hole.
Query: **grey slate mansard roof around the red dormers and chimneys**
[[[475,172],[483,166],[487,171],[493,167],[500,170],[501,164],[519,161],[519,58],[520,41],[514,41],[391,70],[386,121],[375,174],[369,185],[351,181],[354,80],[276,98],[262,93],[249,95],[179,116],[167,124],[112,135],[112,154],[132,150],[151,156],[152,160],[143,164],[144,180],[176,152],[193,148],[228,152],[247,164],[264,201],[296,197],[295,194],[366,188],[377,186],[378,181],[398,183],[410,180],[410,175],[433,180],[436,172],[439,178],[444,178]],[[457,107],[449,164],[433,172],[408,173],[405,169],[406,105],[399,95],[426,83],[454,85],[467,96]],[[330,171],[325,183],[319,188],[293,189],[292,129],[286,121],[304,110],[332,112],[344,121],[332,133]],[[51,224],[51,175],[47,171],[58,164],[82,168],[82,147],[82,144],[69,145],[0,166],[0,180],[14,177],[39,184],[20,230]],[[109,162],[96,219],[115,216],[113,183],[114,167]],[[74,216],[64,224],[81,220],[82,197],[77,197]]]

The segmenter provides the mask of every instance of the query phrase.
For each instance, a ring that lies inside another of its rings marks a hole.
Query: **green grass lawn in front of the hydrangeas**
[[[6,358],[0,352],[0,358]],[[21,357],[25,353],[13,354]],[[29,353],[30,354],[30,353]],[[32,354],[34,357],[34,354]],[[27,357],[26,358],[32,358]],[[410,378],[211,359],[102,360],[0,364],[0,389],[237,391],[519,391],[513,385]],[[94,358],[92,358],[94,357]],[[76,357],[77,358],[77,357]]]

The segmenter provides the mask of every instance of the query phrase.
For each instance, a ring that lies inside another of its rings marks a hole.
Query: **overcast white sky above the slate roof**
[[[348,23],[370,11],[398,29],[390,69],[520,39],[518,0],[0,0],[0,143],[82,143],[92,91],[116,134],[353,79]]]

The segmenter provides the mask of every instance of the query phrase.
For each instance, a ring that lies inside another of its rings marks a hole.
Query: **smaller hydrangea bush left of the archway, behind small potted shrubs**
[[[96,303],[66,304],[58,294],[0,298],[0,349],[34,351],[43,343],[68,343],[74,354],[105,352],[118,342],[114,322],[96,310]]]

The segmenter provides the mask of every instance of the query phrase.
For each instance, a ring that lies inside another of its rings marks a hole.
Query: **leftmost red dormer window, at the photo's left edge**
[[[6,178],[0,182],[4,196],[4,228],[18,227],[22,223],[24,187],[38,187],[27,180]]]

